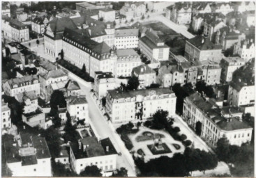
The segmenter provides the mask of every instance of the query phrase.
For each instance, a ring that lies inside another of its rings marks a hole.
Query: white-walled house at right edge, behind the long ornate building
[[[232,106],[243,106],[255,103],[254,83],[232,81],[229,85],[227,102]]]

